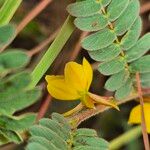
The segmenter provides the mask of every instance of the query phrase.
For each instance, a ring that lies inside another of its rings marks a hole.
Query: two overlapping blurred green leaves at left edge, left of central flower
[[[12,115],[33,103],[40,96],[38,88],[28,90],[31,82],[30,74],[22,72],[10,77],[5,77],[0,83],[0,113]]]

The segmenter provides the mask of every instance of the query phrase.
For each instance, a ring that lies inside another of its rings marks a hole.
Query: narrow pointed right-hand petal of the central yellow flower
[[[85,58],[83,58],[83,69],[84,69],[84,75],[86,78],[86,84],[87,84],[86,87],[87,87],[87,90],[89,90],[92,79],[93,79],[93,70],[92,70],[91,65]]]

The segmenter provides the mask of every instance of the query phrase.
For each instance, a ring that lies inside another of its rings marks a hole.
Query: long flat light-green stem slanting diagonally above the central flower
[[[72,32],[74,31],[75,26],[73,25],[73,17],[69,16],[64,25],[62,26],[59,34],[57,35],[54,42],[48,48],[47,52],[39,62],[39,64],[35,67],[32,72],[32,83],[30,84],[29,88],[33,88],[36,84],[40,81],[43,77],[45,72],[51,66],[59,52],[62,50],[63,46],[71,36]]]

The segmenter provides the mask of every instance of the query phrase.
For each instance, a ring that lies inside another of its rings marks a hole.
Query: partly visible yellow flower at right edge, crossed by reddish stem
[[[144,113],[147,132],[150,133],[150,103],[144,103]],[[129,121],[130,124],[141,123],[141,106],[138,105],[131,110]]]

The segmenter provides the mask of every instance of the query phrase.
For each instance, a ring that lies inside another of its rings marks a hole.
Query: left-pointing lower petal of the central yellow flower
[[[46,76],[48,92],[59,100],[77,100],[80,95],[69,84],[66,84],[64,76]]]

